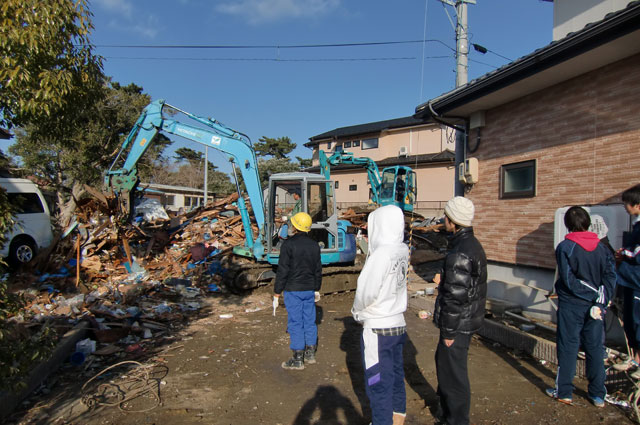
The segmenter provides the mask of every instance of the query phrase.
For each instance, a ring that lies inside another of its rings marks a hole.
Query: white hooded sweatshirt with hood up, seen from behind
[[[404,213],[380,207],[367,220],[369,253],[358,277],[353,318],[365,328],[406,326],[409,248],[404,244]]]

